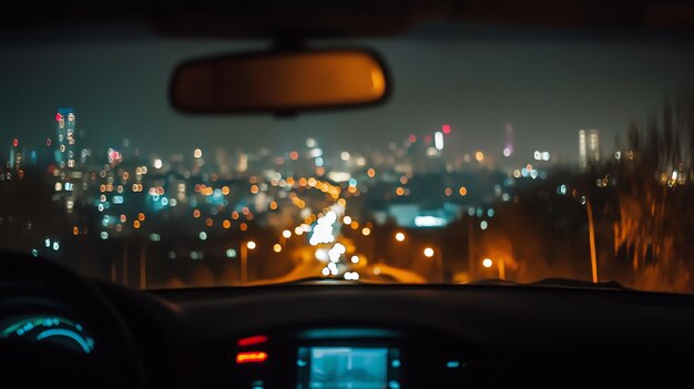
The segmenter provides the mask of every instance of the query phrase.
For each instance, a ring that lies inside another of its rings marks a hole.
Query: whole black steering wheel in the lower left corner
[[[93,285],[53,262],[2,253],[0,323],[7,325],[21,317],[48,319],[24,325],[20,320],[17,329],[0,328],[0,335],[4,335],[0,338],[1,388],[41,383],[58,388],[144,388],[135,342],[118,311]],[[93,344],[85,345],[74,331],[59,329],[58,317],[79,323],[76,328],[89,331],[88,339]],[[29,332],[32,326],[54,327],[41,328],[39,336],[17,336]],[[51,340],[47,334],[53,336]],[[81,341],[83,352],[79,347],[65,348],[69,338]]]

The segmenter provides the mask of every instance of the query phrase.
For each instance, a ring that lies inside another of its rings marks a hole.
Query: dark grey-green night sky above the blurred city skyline
[[[630,120],[641,123],[665,96],[694,89],[691,39],[429,25],[406,37],[340,42],[382,54],[394,78],[385,105],[282,120],[191,116],[169,105],[167,83],[178,61],[267,42],[164,40],[140,31],[116,25],[108,33],[2,38],[0,142],[9,145],[18,136],[39,145],[53,137],[59,106],[75,109],[90,146],[119,146],[127,137],[145,153],[162,155],[220,146],[285,151],[309,136],[328,153],[367,143],[386,150],[390,141],[443,123],[453,129],[447,147],[500,155],[511,122],[517,153],[530,157],[549,150],[575,164],[578,130],[601,130],[603,151],[611,151]]]

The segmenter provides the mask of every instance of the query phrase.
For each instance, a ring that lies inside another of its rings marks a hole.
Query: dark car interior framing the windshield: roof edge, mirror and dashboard
[[[220,52],[162,69],[171,75],[169,90],[160,92],[172,110],[193,117],[267,115],[278,121],[379,110],[400,92],[387,58],[368,47],[333,43],[345,38],[387,39],[430,20],[683,34],[694,27],[694,6],[656,0],[127,0],[38,7],[43,4],[0,6],[6,39],[35,42],[22,37],[40,37],[69,21],[106,30],[110,23],[140,23],[147,34],[193,42],[271,42],[265,50]],[[53,18],[57,13],[61,17]],[[96,38],[65,31],[55,39]],[[0,387],[694,385],[692,295],[613,281],[516,284],[500,278],[399,284],[318,276],[141,290],[6,250],[0,260]]]

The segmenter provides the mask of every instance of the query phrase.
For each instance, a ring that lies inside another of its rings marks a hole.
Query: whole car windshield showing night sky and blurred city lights
[[[273,116],[167,98],[178,62],[268,41],[122,29],[0,41],[0,248],[140,288],[694,288],[688,35],[436,23],[313,41],[380,53],[390,100]]]

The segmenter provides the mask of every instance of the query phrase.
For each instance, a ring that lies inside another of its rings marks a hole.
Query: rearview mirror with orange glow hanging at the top
[[[378,103],[387,96],[382,62],[366,50],[261,52],[195,60],[171,83],[182,112],[294,113]]]

